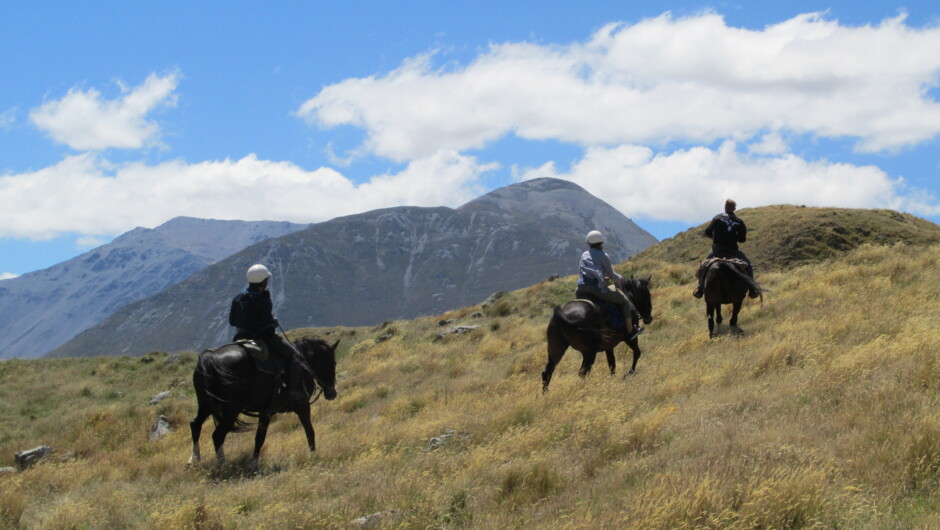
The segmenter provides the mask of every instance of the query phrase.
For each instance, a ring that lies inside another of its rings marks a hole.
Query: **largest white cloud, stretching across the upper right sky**
[[[395,160],[484,147],[507,134],[584,146],[746,140],[773,130],[895,150],[940,132],[928,89],[940,27],[903,15],[850,27],[806,14],[761,30],[716,14],[611,24],[568,46],[494,45],[466,66],[433,55],[323,88],[297,111],[367,131]]]

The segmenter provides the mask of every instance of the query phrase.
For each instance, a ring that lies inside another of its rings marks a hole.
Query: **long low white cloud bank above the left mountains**
[[[357,185],[333,169],[307,171],[254,155],[114,166],[84,153],[0,176],[0,237],[117,234],[179,215],[307,223],[390,206],[458,206],[483,191],[481,175],[496,167],[441,151]]]

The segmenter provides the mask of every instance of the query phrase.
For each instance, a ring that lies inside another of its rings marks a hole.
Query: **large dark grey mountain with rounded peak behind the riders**
[[[507,186],[457,209],[398,207],[263,241],[118,311],[53,356],[198,350],[228,341],[231,298],[253,263],[271,269],[285,328],[371,325],[478,303],[576,271],[591,229],[615,262],[656,239],[581,187]]]

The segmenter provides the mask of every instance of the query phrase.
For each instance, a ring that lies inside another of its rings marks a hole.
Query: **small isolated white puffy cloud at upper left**
[[[53,140],[79,151],[150,147],[159,144],[160,127],[147,115],[176,105],[178,81],[171,73],[151,74],[133,89],[118,83],[122,96],[115,100],[102,99],[95,89],[73,88],[62,99],[33,109],[29,117]]]

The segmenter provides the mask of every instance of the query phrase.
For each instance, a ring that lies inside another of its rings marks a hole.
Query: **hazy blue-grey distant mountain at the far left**
[[[243,248],[306,225],[177,217],[47,269],[0,281],[0,358],[38,357]]]

